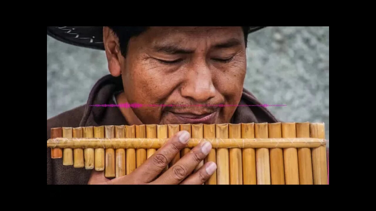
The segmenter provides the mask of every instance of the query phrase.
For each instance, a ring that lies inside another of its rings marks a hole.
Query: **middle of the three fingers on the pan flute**
[[[162,174],[153,183],[156,184],[179,184],[190,174],[195,167],[209,154],[212,145],[210,142],[201,142],[188,154],[180,158],[172,167]]]

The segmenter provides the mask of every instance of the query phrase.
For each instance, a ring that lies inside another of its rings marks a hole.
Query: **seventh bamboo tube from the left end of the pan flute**
[[[124,125],[115,126],[115,138],[125,138]],[[124,176],[126,173],[125,168],[125,149],[115,150],[115,178]]]

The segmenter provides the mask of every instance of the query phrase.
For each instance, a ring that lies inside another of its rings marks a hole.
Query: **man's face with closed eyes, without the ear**
[[[228,123],[246,74],[241,27],[150,27],[120,59],[129,103],[143,124]]]

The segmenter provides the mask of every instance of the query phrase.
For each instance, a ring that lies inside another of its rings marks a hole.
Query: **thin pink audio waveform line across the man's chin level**
[[[240,104],[240,105],[230,105],[230,104],[198,104],[198,105],[175,105],[175,104],[139,104],[139,103],[121,103],[121,104],[94,104],[90,105],[92,107],[122,107],[122,108],[140,108],[140,107],[250,107],[250,106],[258,106],[258,107],[276,107],[276,106],[287,106],[287,105],[269,105],[269,104],[261,104],[261,105],[247,105],[247,104]]]

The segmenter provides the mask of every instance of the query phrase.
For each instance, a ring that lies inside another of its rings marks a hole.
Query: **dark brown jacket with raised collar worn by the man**
[[[115,104],[114,92],[123,89],[118,77],[106,75],[92,88],[85,105],[61,113],[47,119],[47,140],[50,130],[54,127],[85,127],[100,125],[127,125],[120,110],[115,107],[92,107],[92,104]],[[261,105],[261,103],[246,89],[240,104]],[[277,122],[277,119],[262,106],[237,107],[230,123],[246,122]],[[76,169],[73,166],[63,166],[62,159],[51,159],[51,150],[47,148],[47,184],[87,184],[90,170]]]

